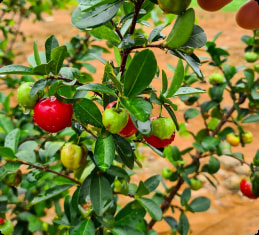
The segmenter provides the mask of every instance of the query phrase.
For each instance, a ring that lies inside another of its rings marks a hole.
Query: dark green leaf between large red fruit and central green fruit
[[[74,104],[74,113],[76,119],[83,125],[91,124],[98,128],[103,127],[102,114],[97,105],[89,99],[82,99]]]

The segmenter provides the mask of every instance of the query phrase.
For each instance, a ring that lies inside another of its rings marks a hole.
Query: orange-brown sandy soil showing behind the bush
[[[250,31],[240,29],[234,19],[234,13],[207,13],[204,11],[197,12],[197,19],[200,26],[205,30],[208,40],[212,40],[218,33],[222,32],[222,35],[217,39],[217,44],[220,46],[227,46],[229,48],[230,64],[235,66],[243,65],[243,51],[244,44],[240,41],[242,35],[251,35]],[[79,33],[79,30],[74,28],[70,22],[70,16],[67,11],[55,12],[53,16],[46,16],[45,22],[32,24],[30,20],[26,20],[22,24],[22,30],[26,35],[31,35],[26,42],[16,43],[16,52],[20,54],[15,63],[28,65],[27,56],[33,52],[33,42],[37,40],[40,49],[44,48],[45,39],[51,34],[55,34],[60,44],[67,42],[70,37]],[[170,29],[167,29],[170,30]],[[157,58],[159,58],[158,64],[161,69],[168,72],[169,76],[173,76],[173,73],[169,71],[166,66],[167,63],[175,66],[176,59],[169,54],[164,54],[161,51],[155,51]],[[199,55],[205,55],[203,50],[198,52]],[[106,59],[114,59],[112,54],[104,55]],[[103,65],[96,61],[93,65],[97,67],[97,73],[94,77],[98,80],[102,77]],[[215,70],[208,65],[203,65],[202,70],[207,76]],[[242,75],[239,75],[242,76]],[[161,81],[155,80],[153,86],[157,89],[161,87]],[[201,87],[207,86],[207,84],[200,84]],[[206,95],[203,96],[203,99]],[[15,102],[15,100],[13,100]],[[183,105],[179,100],[174,101],[179,105],[179,111],[177,111],[177,117],[180,121],[183,121],[183,112],[189,108]],[[228,97],[224,98],[224,105],[231,106]],[[156,110],[154,111],[154,114]],[[188,123],[188,128],[197,131],[202,127],[202,122],[199,119],[194,119]],[[255,141],[247,147],[236,147],[235,151],[241,151],[245,153],[246,159],[249,161],[257,151],[259,132],[257,131],[257,124],[251,124],[245,126],[246,130],[251,131],[254,134]],[[180,149],[190,146],[192,139],[186,139],[177,136],[174,142]],[[147,156],[144,161],[144,167],[140,170],[140,175],[134,177],[134,181],[140,179],[146,179],[150,175],[159,174],[163,167],[170,167],[165,159],[156,156],[150,150],[143,149],[144,154]],[[223,159],[223,158],[222,158]],[[232,165],[231,165],[232,164]],[[259,229],[259,201],[249,200],[241,196],[238,190],[239,180],[245,175],[249,174],[249,169],[246,166],[240,167],[239,164],[233,162],[222,161],[222,170],[216,174],[219,179],[218,189],[214,189],[208,183],[204,182],[204,187],[193,193],[193,198],[196,196],[207,196],[211,199],[212,204],[209,211],[204,213],[191,214],[187,213],[187,216],[191,224],[192,235],[254,235]],[[216,181],[215,181],[216,182]],[[217,182],[216,182],[217,183]],[[167,182],[168,186],[171,186]],[[161,189],[162,186],[161,186]],[[122,200],[123,202],[123,200]],[[179,200],[176,199],[174,204],[179,204]],[[168,212],[170,214],[170,212]],[[178,220],[179,213],[174,214]],[[165,223],[157,223],[155,229],[158,229],[160,235],[170,234],[170,228]]]

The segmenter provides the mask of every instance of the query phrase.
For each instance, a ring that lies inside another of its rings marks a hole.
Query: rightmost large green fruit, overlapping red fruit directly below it
[[[175,124],[169,117],[161,117],[152,120],[152,134],[161,140],[170,139],[175,132]]]

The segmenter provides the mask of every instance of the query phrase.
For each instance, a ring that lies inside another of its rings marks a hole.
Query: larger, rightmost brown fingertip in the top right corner
[[[259,29],[259,4],[255,0],[246,2],[236,13],[236,22],[243,29]]]

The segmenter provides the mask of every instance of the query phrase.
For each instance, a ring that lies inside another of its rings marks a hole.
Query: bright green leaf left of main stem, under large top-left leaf
[[[90,34],[96,38],[102,40],[108,40],[109,42],[113,43],[115,46],[120,44],[120,37],[110,28],[106,26],[101,26],[98,28],[93,29]]]

